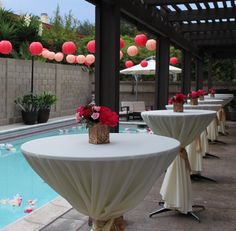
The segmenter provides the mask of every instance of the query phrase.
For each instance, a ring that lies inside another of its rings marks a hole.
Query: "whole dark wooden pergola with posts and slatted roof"
[[[182,50],[182,92],[191,87],[191,59],[202,87],[203,58],[236,58],[236,3],[215,0],[88,0],[96,6],[95,98],[119,111],[120,19],[156,36],[155,109],[168,100],[169,47]],[[211,62],[208,68],[211,87]]]

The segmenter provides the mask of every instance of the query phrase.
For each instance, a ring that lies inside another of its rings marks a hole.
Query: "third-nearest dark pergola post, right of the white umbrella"
[[[191,89],[191,54],[189,51],[182,51],[182,81],[181,81],[181,92],[188,94]]]

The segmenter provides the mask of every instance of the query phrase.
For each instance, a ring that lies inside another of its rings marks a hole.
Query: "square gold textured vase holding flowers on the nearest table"
[[[110,143],[110,131],[107,125],[96,124],[90,126],[89,129],[89,143],[91,144],[107,144]]]

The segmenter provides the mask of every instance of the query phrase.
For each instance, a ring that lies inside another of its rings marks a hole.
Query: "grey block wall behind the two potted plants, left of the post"
[[[91,101],[91,76],[79,66],[34,63],[34,93],[49,91],[58,97],[51,118],[72,115]],[[14,100],[30,93],[31,61],[0,58],[0,125],[21,121]]]

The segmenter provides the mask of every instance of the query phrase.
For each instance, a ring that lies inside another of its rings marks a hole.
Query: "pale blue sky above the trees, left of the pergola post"
[[[80,21],[89,20],[95,22],[95,7],[85,0],[0,0],[6,10],[11,10],[16,14],[33,14],[40,16],[47,13],[52,18],[57,4],[60,7],[61,15],[72,11],[75,18]]]

